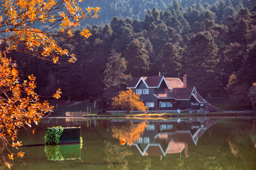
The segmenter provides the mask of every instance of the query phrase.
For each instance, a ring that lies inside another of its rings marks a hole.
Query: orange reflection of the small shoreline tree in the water
[[[136,143],[137,139],[143,135],[143,131],[147,127],[146,121],[134,124],[133,122],[129,122],[129,125],[113,126],[111,128],[113,132],[113,138],[116,139],[125,139],[126,143],[130,144]]]

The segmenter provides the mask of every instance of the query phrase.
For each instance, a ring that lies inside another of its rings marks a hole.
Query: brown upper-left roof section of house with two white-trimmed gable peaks
[[[143,82],[148,88],[160,87],[161,82],[164,81],[169,88],[164,76],[151,76],[151,77],[133,77],[126,88],[137,88],[140,82]]]

